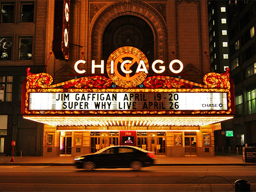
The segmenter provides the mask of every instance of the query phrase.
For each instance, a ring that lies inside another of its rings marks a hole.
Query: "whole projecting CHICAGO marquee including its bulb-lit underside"
[[[162,62],[156,60],[154,65]],[[181,61],[175,62],[183,68]],[[94,65],[102,66],[103,62]],[[158,69],[161,67],[164,69]],[[124,47],[113,52],[106,71],[108,76],[83,76],[52,84],[49,74],[32,74],[28,69],[23,87],[24,118],[58,126],[200,126],[233,117],[228,69],[225,74],[206,74],[204,84],[159,74],[150,76],[143,53]]]

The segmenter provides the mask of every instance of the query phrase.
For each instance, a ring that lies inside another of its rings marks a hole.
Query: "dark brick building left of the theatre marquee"
[[[43,125],[20,115],[27,68],[44,71],[47,53],[47,1],[0,1],[0,145],[1,155],[41,155]],[[50,46],[50,45],[49,45]]]

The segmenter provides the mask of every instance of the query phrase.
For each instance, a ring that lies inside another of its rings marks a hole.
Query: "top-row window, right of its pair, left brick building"
[[[34,22],[34,2],[22,3],[20,11],[21,23],[33,23]]]

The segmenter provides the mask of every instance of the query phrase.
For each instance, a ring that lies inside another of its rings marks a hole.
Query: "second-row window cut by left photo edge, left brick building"
[[[0,37],[0,60],[11,60],[12,37]]]

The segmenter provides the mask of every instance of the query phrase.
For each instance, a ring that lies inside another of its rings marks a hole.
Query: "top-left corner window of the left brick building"
[[[1,23],[13,23],[14,3],[1,4]]]

